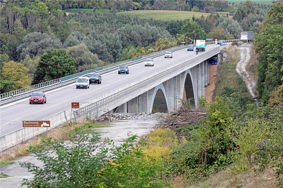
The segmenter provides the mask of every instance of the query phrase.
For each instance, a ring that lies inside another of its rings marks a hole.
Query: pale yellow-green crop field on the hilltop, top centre
[[[207,17],[208,13],[201,12],[187,12],[187,11],[175,11],[175,10],[135,10],[122,12],[119,14],[129,14],[133,16],[139,16],[142,18],[153,18],[159,20],[185,20],[192,19],[193,15],[195,17],[201,17],[201,15]]]

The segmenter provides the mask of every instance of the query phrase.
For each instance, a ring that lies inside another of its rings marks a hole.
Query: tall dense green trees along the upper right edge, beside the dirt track
[[[258,91],[263,105],[267,104],[270,92],[282,85],[283,46],[280,42],[283,40],[282,7],[283,2],[271,6],[263,21],[262,29],[256,37],[255,49],[260,54],[258,56],[260,62]]]

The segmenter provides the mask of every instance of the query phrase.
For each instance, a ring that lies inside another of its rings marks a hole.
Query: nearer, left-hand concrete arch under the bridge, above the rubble
[[[168,100],[167,100],[165,88],[162,83],[156,86],[153,91],[153,96],[152,96],[151,105],[150,105],[150,112],[152,112],[154,99],[155,99],[158,111],[166,113],[169,107],[168,107]]]

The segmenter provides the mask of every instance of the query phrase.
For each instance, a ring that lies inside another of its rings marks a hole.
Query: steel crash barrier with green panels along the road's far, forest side
[[[239,41],[241,39],[233,39],[233,40],[226,40],[227,42],[229,41]],[[215,41],[211,41],[211,42],[206,42],[206,44],[212,44],[215,43]],[[196,44],[192,44],[192,45],[196,45]],[[139,63],[141,60],[147,58],[147,57],[153,57],[153,56],[158,56],[160,54],[164,54],[166,51],[173,51],[173,50],[177,50],[180,48],[184,48],[186,46],[184,45],[179,45],[176,47],[172,47],[166,50],[161,50],[158,52],[153,52],[151,54],[146,54],[140,57],[136,57],[134,59],[128,59],[125,61],[119,61],[116,63],[112,63],[110,65],[105,65],[103,67],[98,67],[95,69],[91,69],[91,70],[87,70],[87,71],[83,71],[83,72],[79,72],[76,74],[72,74],[69,76],[65,76],[63,78],[58,78],[58,79],[54,79],[51,81],[47,81],[44,83],[40,83],[40,84],[36,84],[36,85],[32,85],[29,87],[25,87],[22,89],[18,89],[18,90],[14,90],[14,91],[10,91],[10,92],[6,92],[0,95],[0,106],[14,102],[14,101],[18,101],[20,99],[24,99],[29,97],[29,95],[33,92],[37,92],[37,91],[41,91],[41,92],[46,92],[46,91],[50,91],[59,87],[63,87],[65,85],[69,85],[71,83],[74,83],[76,81],[76,79],[78,79],[79,76],[88,76],[90,73],[92,72],[99,72],[100,74],[105,74],[108,73],[110,71],[113,71],[115,69],[118,68],[118,66],[120,65],[128,65],[128,64],[132,64],[133,62]]]

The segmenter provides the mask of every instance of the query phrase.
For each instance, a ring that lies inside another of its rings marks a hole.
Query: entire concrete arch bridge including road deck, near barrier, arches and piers
[[[209,84],[208,61],[219,59],[222,47],[207,44],[205,52],[198,55],[184,47],[174,47],[173,58],[168,59],[164,59],[163,52],[154,52],[151,57],[150,54],[142,57],[153,58],[153,67],[145,67],[143,62],[139,63],[142,60],[134,63],[127,60],[130,74],[117,74],[119,64],[107,65],[113,68],[102,74],[102,84],[91,84],[89,89],[76,89],[77,77],[68,78],[67,84],[52,90],[41,88],[60,85],[61,80],[39,84],[37,91],[45,91],[46,104],[30,105],[28,98],[23,98],[1,106],[0,151],[46,131],[46,128],[24,130],[23,120],[50,120],[52,129],[70,118],[97,117],[115,108],[116,112],[151,112],[154,100],[161,112],[177,107],[183,96],[194,98],[191,103],[197,105],[198,96],[204,95],[204,87]],[[26,91],[21,92],[29,97]],[[80,102],[80,109],[71,109],[71,102]]]

